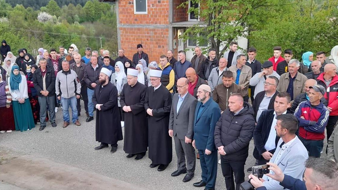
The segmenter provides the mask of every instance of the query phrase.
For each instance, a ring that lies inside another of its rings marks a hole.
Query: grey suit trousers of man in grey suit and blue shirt
[[[187,170],[187,174],[193,175],[195,173],[196,158],[195,149],[191,143],[185,143],[185,140],[174,136],[175,150],[177,156],[177,169]],[[187,159],[187,165],[186,165]]]

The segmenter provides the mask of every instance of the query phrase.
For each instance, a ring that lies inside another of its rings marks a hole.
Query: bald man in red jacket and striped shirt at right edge
[[[328,63],[324,67],[324,72],[317,78],[318,85],[325,88],[324,98],[328,101],[330,112],[328,125],[326,126],[326,136],[330,139],[331,134],[338,121],[338,76],[336,74],[337,66]]]

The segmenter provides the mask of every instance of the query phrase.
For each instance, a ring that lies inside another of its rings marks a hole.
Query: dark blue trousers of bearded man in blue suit
[[[198,150],[198,153],[202,169],[202,181],[207,183],[206,189],[214,189],[217,176],[217,151],[212,151],[210,155],[206,155],[205,150]]]

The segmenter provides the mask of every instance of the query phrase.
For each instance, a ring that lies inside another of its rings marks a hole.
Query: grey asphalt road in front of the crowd
[[[81,101],[81,103],[83,108],[83,102]],[[82,116],[79,117],[81,126],[70,124],[67,128],[62,128],[62,111],[59,109],[56,113],[57,127],[53,128],[48,123],[43,131],[39,131],[40,125],[36,125],[35,128],[27,132],[15,131],[9,134],[0,134],[0,148],[8,152],[15,152],[16,156],[32,155],[148,189],[203,189],[192,185],[201,180],[199,160],[196,161],[195,176],[190,182],[182,182],[184,174],[177,177],[170,175],[177,168],[174,144],[173,160],[168,168],[162,172],[157,171],[156,168],[149,167],[151,161],[148,159],[148,152],[141,160],[127,159],[125,157],[126,153],[123,151],[123,140],[119,141],[118,150],[115,153],[110,153],[110,148],[94,150],[94,147],[99,145],[95,141],[95,119],[86,123],[86,114],[84,109],[82,110]],[[324,147],[326,147],[326,140]],[[249,157],[245,168],[251,167],[255,163],[255,159],[252,156],[253,149],[254,142],[251,140]],[[322,155],[324,156],[325,154],[323,153]],[[245,173],[247,179],[249,173],[246,171]],[[225,189],[220,165],[218,165],[216,189]]]

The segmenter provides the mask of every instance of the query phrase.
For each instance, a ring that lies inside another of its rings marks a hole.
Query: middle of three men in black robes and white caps
[[[124,146],[127,158],[144,157],[148,149],[148,122],[144,110],[147,87],[137,81],[137,69],[127,69],[127,82],[120,93],[120,104],[124,111]]]

